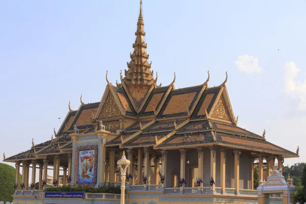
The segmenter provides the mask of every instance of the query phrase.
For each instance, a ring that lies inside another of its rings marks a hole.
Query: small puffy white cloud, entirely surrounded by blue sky
[[[249,55],[240,55],[235,61],[236,66],[239,71],[245,73],[260,73],[262,71],[262,67],[258,65],[259,59]]]

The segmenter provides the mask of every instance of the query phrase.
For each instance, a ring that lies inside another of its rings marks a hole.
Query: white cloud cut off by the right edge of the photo
[[[285,84],[283,92],[291,99],[299,99],[298,110],[306,110],[306,80],[304,82],[295,80],[300,69],[296,67],[294,62],[287,62],[284,69]]]

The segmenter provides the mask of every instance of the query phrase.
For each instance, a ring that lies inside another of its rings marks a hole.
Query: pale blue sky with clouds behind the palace
[[[238,125],[305,162],[306,8],[296,1],[143,0],[147,53],[176,88],[225,79]],[[71,108],[115,84],[135,40],[139,1],[0,2],[0,143],[12,156],[51,138]],[[279,49],[279,50],[278,50]],[[61,117],[62,119],[58,119]],[[2,153],[1,153],[2,154]]]

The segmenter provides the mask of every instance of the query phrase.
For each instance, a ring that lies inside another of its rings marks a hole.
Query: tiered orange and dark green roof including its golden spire
[[[217,87],[208,87],[209,73],[206,82],[198,86],[175,89],[175,73],[170,85],[157,86],[157,77],[152,78],[151,64],[147,61],[143,26],[141,2],[134,52],[131,62],[127,63],[129,70],[125,70],[125,77],[120,73],[120,84],[113,86],[106,74],[107,87],[99,103],[84,104],[81,95],[79,110],[72,111],[69,102],[69,112],[55,139],[33,145],[30,150],[4,161],[67,152],[72,149],[69,134],[73,133],[74,125],[80,134],[94,134],[100,120],[108,131],[118,134],[107,142],[108,147],[178,149],[214,145],[285,158],[298,157],[292,151],[267,142],[264,135],[237,126],[238,116],[234,116],[225,86],[227,73],[225,81]],[[127,119],[130,125],[126,126]]]

